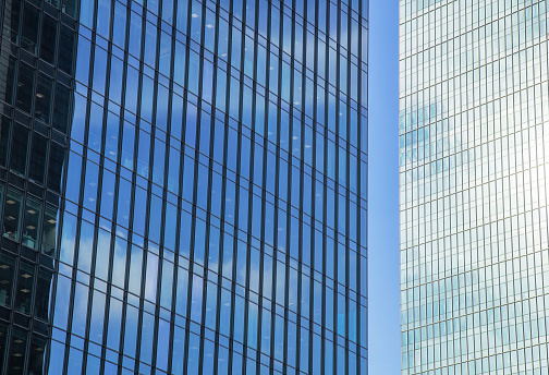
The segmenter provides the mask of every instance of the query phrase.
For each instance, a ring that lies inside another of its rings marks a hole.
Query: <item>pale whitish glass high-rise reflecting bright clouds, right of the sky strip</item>
[[[402,374],[548,374],[548,1],[400,1]]]

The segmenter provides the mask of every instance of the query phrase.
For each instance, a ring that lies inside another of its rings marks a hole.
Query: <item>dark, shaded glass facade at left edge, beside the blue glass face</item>
[[[0,2],[2,374],[46,373],[73,110],[76,5]]]

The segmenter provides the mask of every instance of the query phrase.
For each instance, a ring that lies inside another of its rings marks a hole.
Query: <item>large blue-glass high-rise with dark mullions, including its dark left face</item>
[[[365,374],[367,0],[0,3],[0,373]]]

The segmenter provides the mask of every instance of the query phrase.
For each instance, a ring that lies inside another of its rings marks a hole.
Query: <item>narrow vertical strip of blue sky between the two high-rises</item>
[[[399,1],[370,0],[368,374],[400,374]]]

